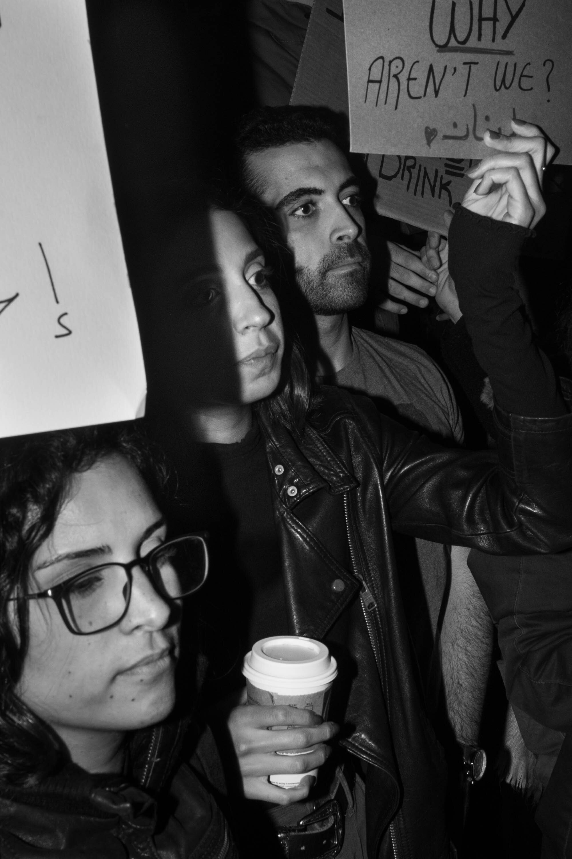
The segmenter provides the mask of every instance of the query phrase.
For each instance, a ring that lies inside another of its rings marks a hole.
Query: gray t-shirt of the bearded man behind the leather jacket
[[[462,442],[461,415],[449,382],[423,350],[361,328],[352,329],[352,345],[350,362],[329,376],[328,383],[364,393],[376,401],[380,411],[397,420],[405,418],[418,430]],[[429,686],[435,667],[431,666],[427,636],[431,628],[435,642],[449,572],[449,546],[416,538],[417,573],[412,570],[415,558],[407,546],[406,539],[396,540],[406,615],[421,673]]]

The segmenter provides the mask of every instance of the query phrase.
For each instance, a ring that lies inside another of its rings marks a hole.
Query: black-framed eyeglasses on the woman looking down
[[[167,602],[194,594],[208,575],[207,544],[200,534],[187,534],[157,546],[129,564],[99,564],[47,588],[15,600],[54,600],[63,623],[75,636],[91,636],[121,623],[129,610],[133,572],[141,567]]]

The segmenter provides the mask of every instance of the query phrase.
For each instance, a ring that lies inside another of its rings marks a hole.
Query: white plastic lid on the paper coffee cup
[[[302,679],[333,673],[336,664],[322,642],[303,636],[262,638],[244,657],[244,667],[275,678]]]

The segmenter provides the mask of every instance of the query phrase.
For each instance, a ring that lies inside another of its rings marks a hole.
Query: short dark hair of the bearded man
[[[258,107],[247,113],[238,126],[236,137],[239,171],[250,192],[260,195],[256,176],[248,168],[253,152],[286,146],[288,143],[316,143],[329,140],[347,155],[347,120],[328,107]]]

